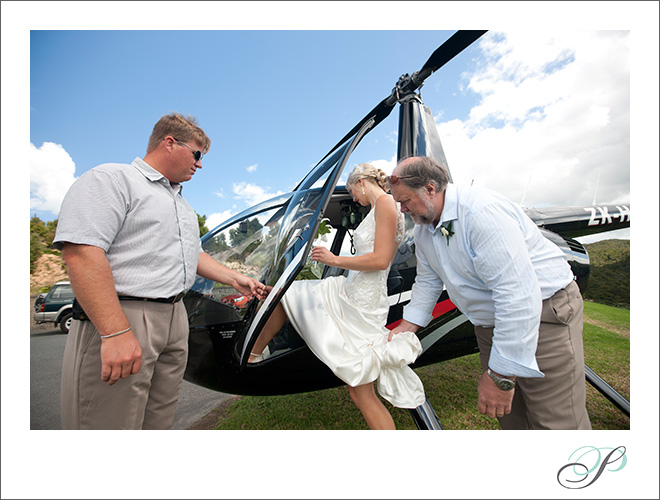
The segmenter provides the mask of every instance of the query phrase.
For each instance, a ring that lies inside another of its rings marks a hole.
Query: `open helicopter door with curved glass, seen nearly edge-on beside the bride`
[[[293,192],[282,217],[273,260],[262,280],[267,286],[272,287],[272,290],[268,297],[258,304],[254,319],[249,320],[243,330],[244,334],[239,337],[235,345],[235,355],[240,359],[241,366],[247,363],[250,349],[275,305],[303,269],[314,235],[330,201],[330,195],[335,189],[348,157],[373,125],[373,119],[369,120],[340,148],[331,151],[331,154],[317,164]]]

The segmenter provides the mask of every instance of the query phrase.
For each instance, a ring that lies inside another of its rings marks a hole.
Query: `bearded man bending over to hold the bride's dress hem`
[[[390,185],[416,224],[417,256],[412,299],[390,338],[428,325],[446,288],[475,328],[481,413],[503,429],[591,429],[582,296],[563,252],[518,205],[449,183],[432,158],[401,161]]]

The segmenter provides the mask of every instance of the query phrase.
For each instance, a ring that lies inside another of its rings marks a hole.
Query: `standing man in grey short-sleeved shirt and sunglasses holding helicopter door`
[[[165,115],[144,158],[95,167],[66,194],[53,242],[76,296],[63,429],[170,429],[188,356],[181,299],[196,275],[264,297],[261,283],[202,251],[181,195],[210,145],[194,118]]]

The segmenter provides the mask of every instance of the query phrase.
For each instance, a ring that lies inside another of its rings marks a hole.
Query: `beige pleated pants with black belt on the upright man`
[[[101,339],[74,320],[62,366],[62,429],[171,429],[188,359],[188,319],[176,304],[121,301],[142,348],[142,368],[101,381]]]

